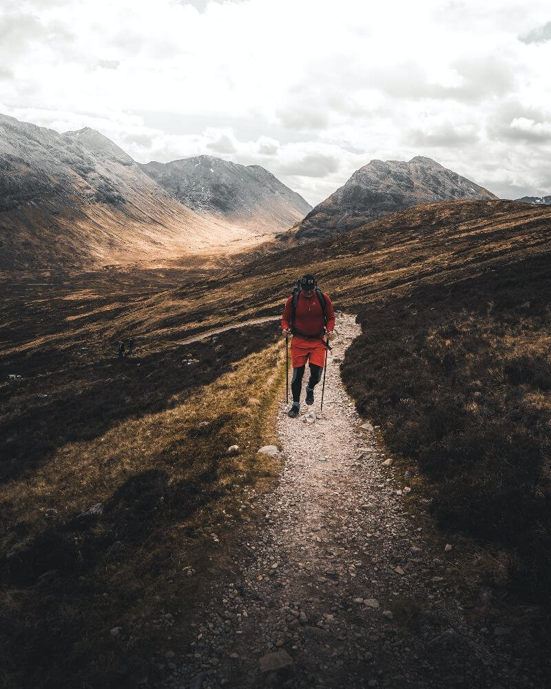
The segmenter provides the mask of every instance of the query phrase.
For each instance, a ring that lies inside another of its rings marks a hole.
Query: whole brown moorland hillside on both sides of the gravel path
[[[132,686],[147,675],[158,686],[169,648],[196,658],[190,644],[203,634],[194,626],[201,595],[211,624],[234,624],[233,612],[222,619],[208,607],[201,582],[218,586],[231,577],[251,556],[253,539],[265,536],[267,522],[256,521],[245,496],[271,489],[279,476],[280,465],[260,462],[256,448],[274,442],[272,406],[284,395],[277,319],[306,270],[362,326],[344,360],[329,365],[340,365],[356,412],[380,426],[397,475],[413,473],[399,513],[430,509],[441,551],[444,537],[455,544],[452,555],[462,546],[437,577],[449,586],[455,614],[476,630],[503,628],[497,620],[505,617],[512,632],[490,633],[496,662],[519,659],[519,675],[543,672],[551,590],[550,249],[551,207],[459,201],[417,206],[211,278],[175,269],[170,276],[141,271],[134,282],[101,273],[88,283],[83,274],[64,284],[55,276],[43,285],[10,282],[0,311],[9,333],[0,348],[5,676],[17,686],[70,686],[78,678],[95,688]],[[263,316],[275,322],[183,344]],[[118,341],[131,337],[134,356],[118,360]],[[233,457],[227,447],[237,439],[245,451]],[[377,479],[373,491],[380,486]],[[96,504],[103,513],[90,512]],[[344,541],[360,518],[355,510],[344,515]],[[430,528],[422,526],[425,539]],[[315,536],[320,547],[323,535]],[[391,554],[401,553],[404,539],[402,530],[392,534]],[[228,554],[222,542],[234,549]],[[364,566],[370,574],[373,556]],[[334,567],[322,573],[331,591],[336,576]],[[387,567],[371,575],[388,577],[393,589],[401,586],[402,575]],[[313,593],[328,586],[306,578]],[[329,595],[324,602],[325,614],[333,602]],[[355,602],[341,604],[353,610],[350,624],[360,624]],[[462,676],[453,662],[457,637],[441,657],[429,645],[422,621],[435,624],[436,613],[421,610],[417,597],[400,595],[395,604],[394,634],[413,630],[431,664],[449,661],[450,677]],[[277,606],[267,610],[279,614]],[[335,615],[344,614],[337,607]],[[340,653],[342,633],[332,624],[326,643]],[[373,637],[374,653],[382,638],[395,643],[383,629],[390,622],[362,624],[358,633]],[[117,627],[132,636],[114,641]],[[397,655],[409,665],[404,648]],[[371,662],[365,667],[373,670]],[[26,685],[15,681],[23,675]]]

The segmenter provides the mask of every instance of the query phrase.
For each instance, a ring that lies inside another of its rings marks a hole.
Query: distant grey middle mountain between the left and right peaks
[[[141,169],[196,213],[243,227],[266,232],[287,229],[312,209],[300,194],[260,165],[195,156],[147,163]]]

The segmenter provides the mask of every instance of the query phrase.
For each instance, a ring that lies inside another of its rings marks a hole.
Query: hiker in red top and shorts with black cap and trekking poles
[[[329,340],[335,327],[335,312],[331,299],[318,287],[313,275],[306,274],[298,280],[293,294],[285,302],[281,326],[284,337],[293,336],[293,404],[287,415],[295,418],[300,410],[300,392],[306,361],[309,362],[310,368],[310,379],[306,384],[306,404],[313,404],[314,387],[322,379],[325,362],[326,346],[322,337],[325,336],[326,340]]]

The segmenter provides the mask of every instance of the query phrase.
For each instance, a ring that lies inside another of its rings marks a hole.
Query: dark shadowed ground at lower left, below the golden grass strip
[[[116,668],[94,667],[87,636],[92,635],[94,644],[108,651],[103,622],[110,615],[108,608],[116,611],[114,619],[123,619],[127,610],[141,605],[150,586],[158,590],[158,577],[174,566],[174,542],[165,535],[171,524],[193,517],[199,507],[220,495],[211,477],[217,471],[216,457],[210,462],[191,480],[174,481],[158,469],[141,471],[118,486],[101,515],[50,524],[12,557],[3,559],[0,578],[8,587],[25,592],[25,613],[33,619],[33,624],[25,624],[13,608],[6,615],[2,631],[13,646],[2,657],[4,671],[17,675],[25,668],[25,686],[29,687],[70,686],[67,677],[83,668],[98,682],[85,686],[136,686],[135,678],[129,679],[127,673],[121,677]],[[180,534],[179,548],[186,537],[198,537],[194,526]],[[205,546],[197,546],[194,558],[205,557],[201,548]],[[120,580],[110,576],[114,568],[124,572]],[[196,584],[189,584],[180,581],[180,605],[193,599]],[[147,644],[148,634],[154,635],[155,630],[140,630],[142,644]],[[63,666],[61,683],[59,677],[50,681],[44,668],[50,675],[59,664]]]

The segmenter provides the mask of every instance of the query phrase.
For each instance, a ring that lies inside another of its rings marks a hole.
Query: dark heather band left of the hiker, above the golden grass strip
[[[67,443],[92,440],[125,420],[171,409],[178,395],[193,394],[233,362],[266,347],[277,329],[277,323],[267,323],[239,335],[220,333],[214,341],[90,364],[72,365],[63,355],[42,351],[51,373],[1,389],[1,480],[28,475]]]

